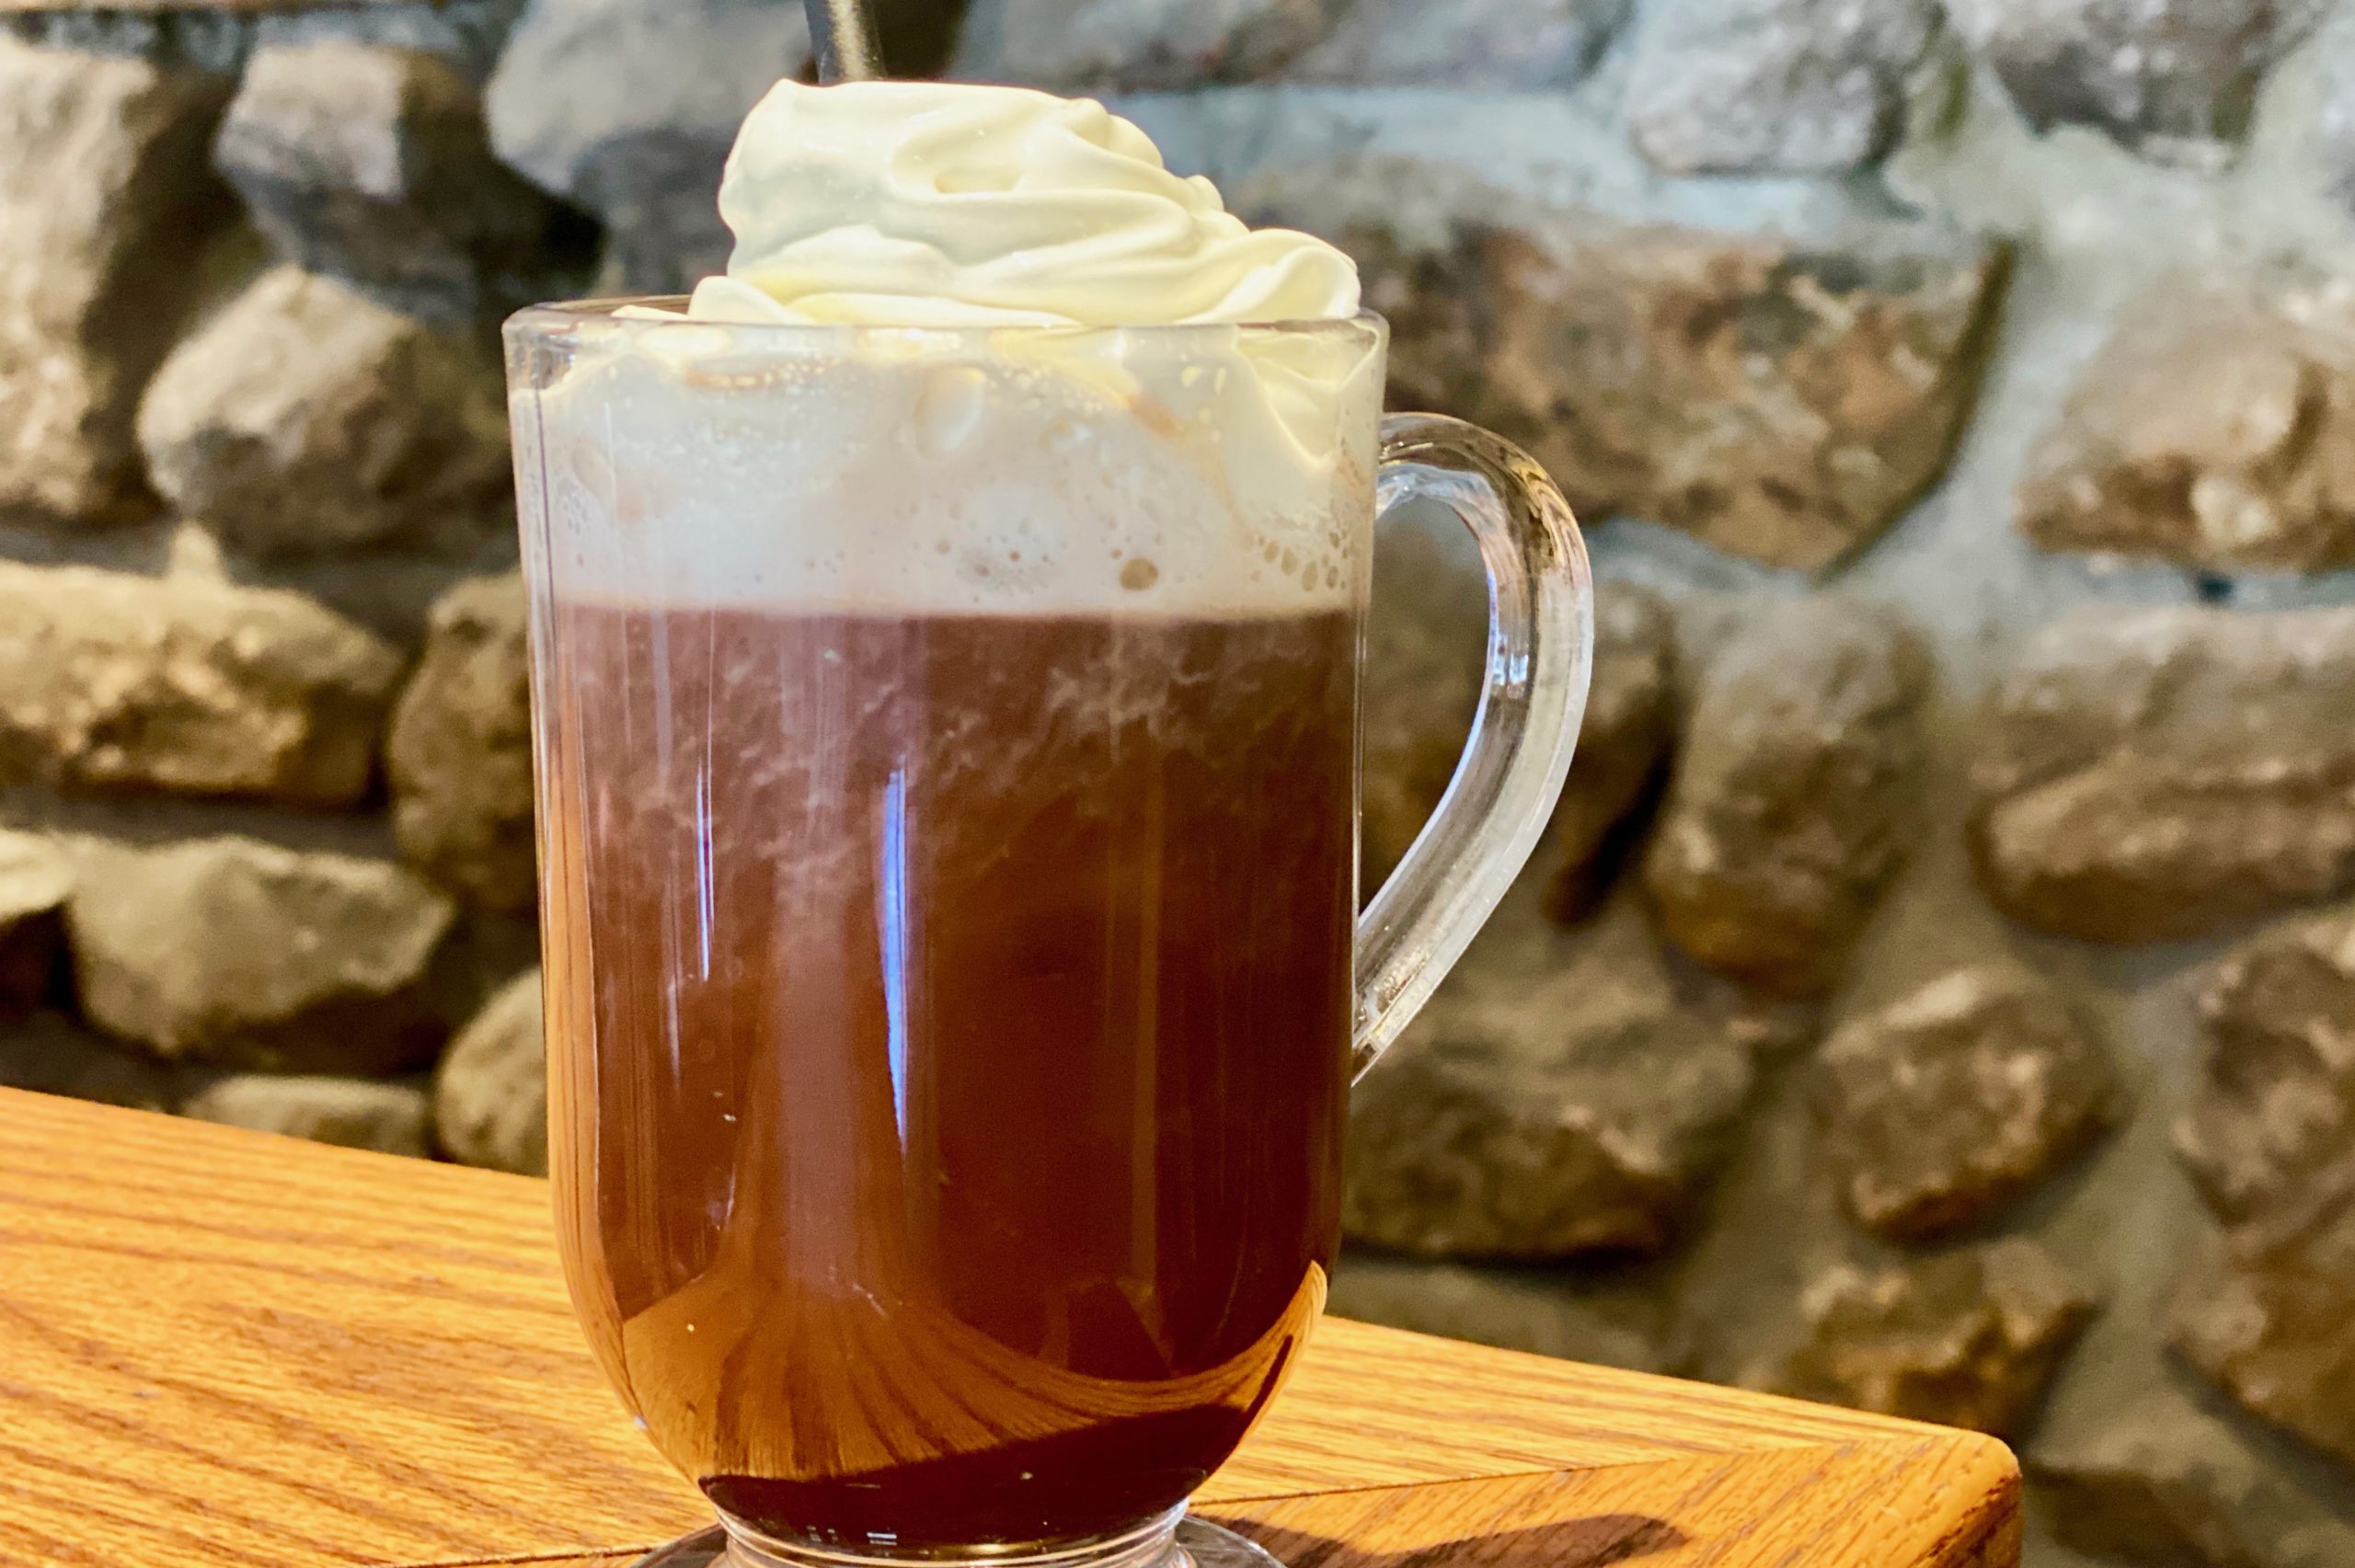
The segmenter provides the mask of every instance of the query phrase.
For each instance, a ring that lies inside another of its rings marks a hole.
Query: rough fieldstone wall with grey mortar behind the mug
[[[904,0],[1333,235],[1604,577],[1356,1102],[1335,1304],[2016,1441],[2035,1561],[2355,1563],[2355,12]],[[770,0],[0,28],[0,1081],[535,1168],[490,325],[714,266]],[[697,195],[704,193],[704,195]],[[1382,546],[1366,841],[1481,598]]]

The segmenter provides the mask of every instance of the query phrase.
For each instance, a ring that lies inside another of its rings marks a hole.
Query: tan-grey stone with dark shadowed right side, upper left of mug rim
[[[544,273],[565,214],[492,158],[473,85],[419,49],[257,52],[214,162],[280,257],[398,311],[469,325],[563,292]]]

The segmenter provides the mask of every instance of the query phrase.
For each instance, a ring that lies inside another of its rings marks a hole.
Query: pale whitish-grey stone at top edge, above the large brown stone
[[[1670,174],[1842,174],[1896,146],[1936,0],[1667,0],[1637,33],[1627,129]]]

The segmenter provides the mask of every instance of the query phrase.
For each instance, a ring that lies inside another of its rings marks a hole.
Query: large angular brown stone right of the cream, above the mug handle
[[[1484,245],[1493,424],[1583,516],[1766,565],[1889,527],[1962,428],[1992,252],[1938,231],[1823,247],[1670,226]]]

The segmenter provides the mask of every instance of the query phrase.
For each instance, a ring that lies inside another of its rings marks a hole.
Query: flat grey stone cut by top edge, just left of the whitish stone
[[[1630,0],[1352,0],[1293,78],[1361,87],[1568,87]]]

